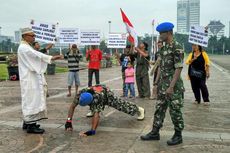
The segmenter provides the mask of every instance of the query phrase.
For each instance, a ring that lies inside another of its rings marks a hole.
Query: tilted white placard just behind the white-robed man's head
[[[56,41],[56,24],[50,24],[45,22],[37,22],[32,20],[30,26],[34,31],[36,41],[45,43],[55,43]]]

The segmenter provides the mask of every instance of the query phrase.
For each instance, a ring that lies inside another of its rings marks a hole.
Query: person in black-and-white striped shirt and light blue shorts
[[[66,54],[66,58],[68,59],[68,91],[67,97],[71,96],[71,87],[73,82],[75,82],[76,94],[78,93],[78,86],[80,86],[80,78],[79,78],[79,61],[82,58],[77,45],[73,44],[70,48],[70,51]]]

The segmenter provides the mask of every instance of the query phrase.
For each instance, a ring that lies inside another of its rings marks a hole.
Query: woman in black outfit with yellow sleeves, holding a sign
[[[210,60],[208,54],[200,45],[192,44],[192,52],[189,54],[186,64],[189,65],[188,76],[195,96],[194,103],[200,104],[201,91],[204,105],[209,105],[209,93],[206,85],[206,79],[210,77]]]

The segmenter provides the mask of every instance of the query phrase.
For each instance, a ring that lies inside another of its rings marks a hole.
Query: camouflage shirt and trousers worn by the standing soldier
[[[169,107],[174,129],[182,131],[184,121],[181,108],[183,107],[182,94],[184,86],[181,77],[177,80],[171,97],[166,96],[166,90],[170,86],[175,70],[183,67],[184,51],[181,45],[173,40],[171,44],[166,44],[161,48],[159,57],[161,58],[157,95],[159,101],[156,104],[153,127],[158,129],[162,127],[166,110]]]

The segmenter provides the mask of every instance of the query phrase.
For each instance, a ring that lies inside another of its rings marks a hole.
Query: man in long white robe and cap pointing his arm
[[[23,129],[27,133],[42,134],[36,122],[47,119],[46,91],[47,83],[44,73],[52,60],[63,58],[62,55],[49,56],[34,50],[31,44],[35,34],[30,28],[21,29],[22,42],[18,48],[18,66],[20,75]]]

